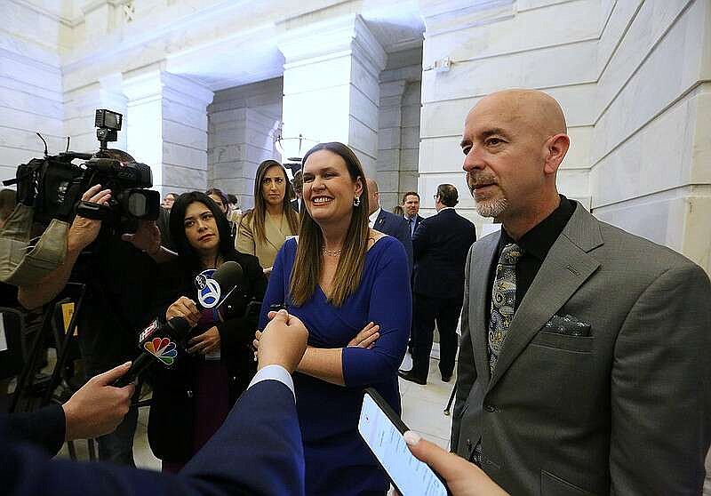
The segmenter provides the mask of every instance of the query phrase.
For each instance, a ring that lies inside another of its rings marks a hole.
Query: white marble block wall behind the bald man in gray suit
[[[711,270],[711,5],[462,5],[421,3],[425,211],[434,206],[425,193],[439,182],[466,191],[458,141],[468,109],[489,92],[535,88],[560,101],[568,120],[571,150],[558,173],[560,191],[598,218]],[[450,70],[437,72],[445,57]],[[489,221],[478,218],[468,195],[460,196],[460,211],[478,226]]]

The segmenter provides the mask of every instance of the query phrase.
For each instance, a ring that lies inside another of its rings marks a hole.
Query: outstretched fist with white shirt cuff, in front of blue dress
[[[300,319],[289,315],[286,310],[269,312],[268,317],[271,322],[264,328],[264,332],[255,333],[256,339],[253,341],[259,356],[257,369],[276,364],[292,373],[306,351],[308,329]]]

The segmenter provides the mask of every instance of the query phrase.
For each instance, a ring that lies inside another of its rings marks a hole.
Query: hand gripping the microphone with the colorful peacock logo
[[[61,405],[67,422],[65,437],[68,441],[114,432],[124,420],[135,386],[129,384],[124,388],[115,388],[112,384],[130,366],[131,362],[128,362],[92,377],[67,403]]]

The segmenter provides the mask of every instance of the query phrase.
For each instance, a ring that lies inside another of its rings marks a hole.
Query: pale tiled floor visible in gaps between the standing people
[[[411,366],[410,356],[405,356],[403,368]],[[403,421],[412,430],[418,432],[433,443],[443,448],[449,446],[451,418],[443,414],[444,406],[454,387],[452,378],[449,383],[440,379],[437,360],[433,358],[430,363],[430,374],[427,386],[419,386],[413,382],[400,380],[400,395],[403,398]],[[160,460],[153,456],[148,447],[146,426],[148,422],[148,408],[141,408],[139,412],[139,427],[133,440],[133,458],[136,465],[141,468],[160,470]],[[86,443],[76,442],[76,452],[80,460],[86,460]],[[68,456],[65,445],[60,456]]]

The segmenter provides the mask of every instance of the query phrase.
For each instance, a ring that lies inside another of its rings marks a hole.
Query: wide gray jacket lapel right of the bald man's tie
[[[579,204],[516,309],[489,390],[540,328],[600,267],[600,262],[587,253],[600,244],[603,239],[597,220]]]

